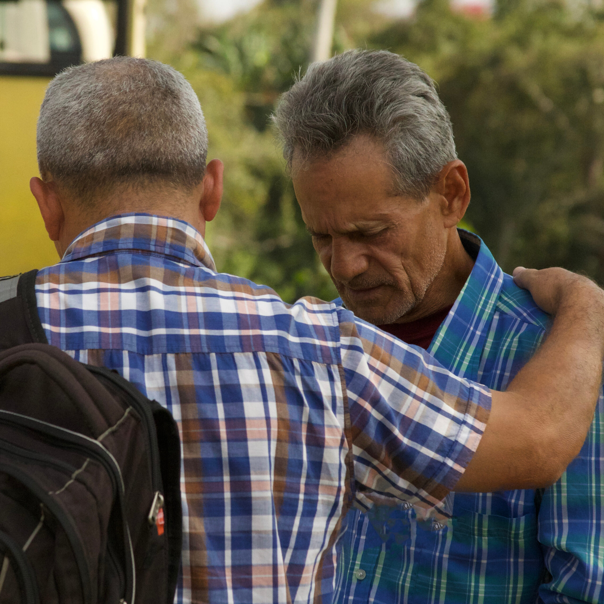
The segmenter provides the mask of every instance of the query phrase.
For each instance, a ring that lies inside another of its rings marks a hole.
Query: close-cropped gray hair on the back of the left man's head
[[[83,200],[150,181],[190,190],[204,177],[207,149],[193,88],[176,69],[148,59],[66,69],[48,86],[37,123],[42,178]]]

